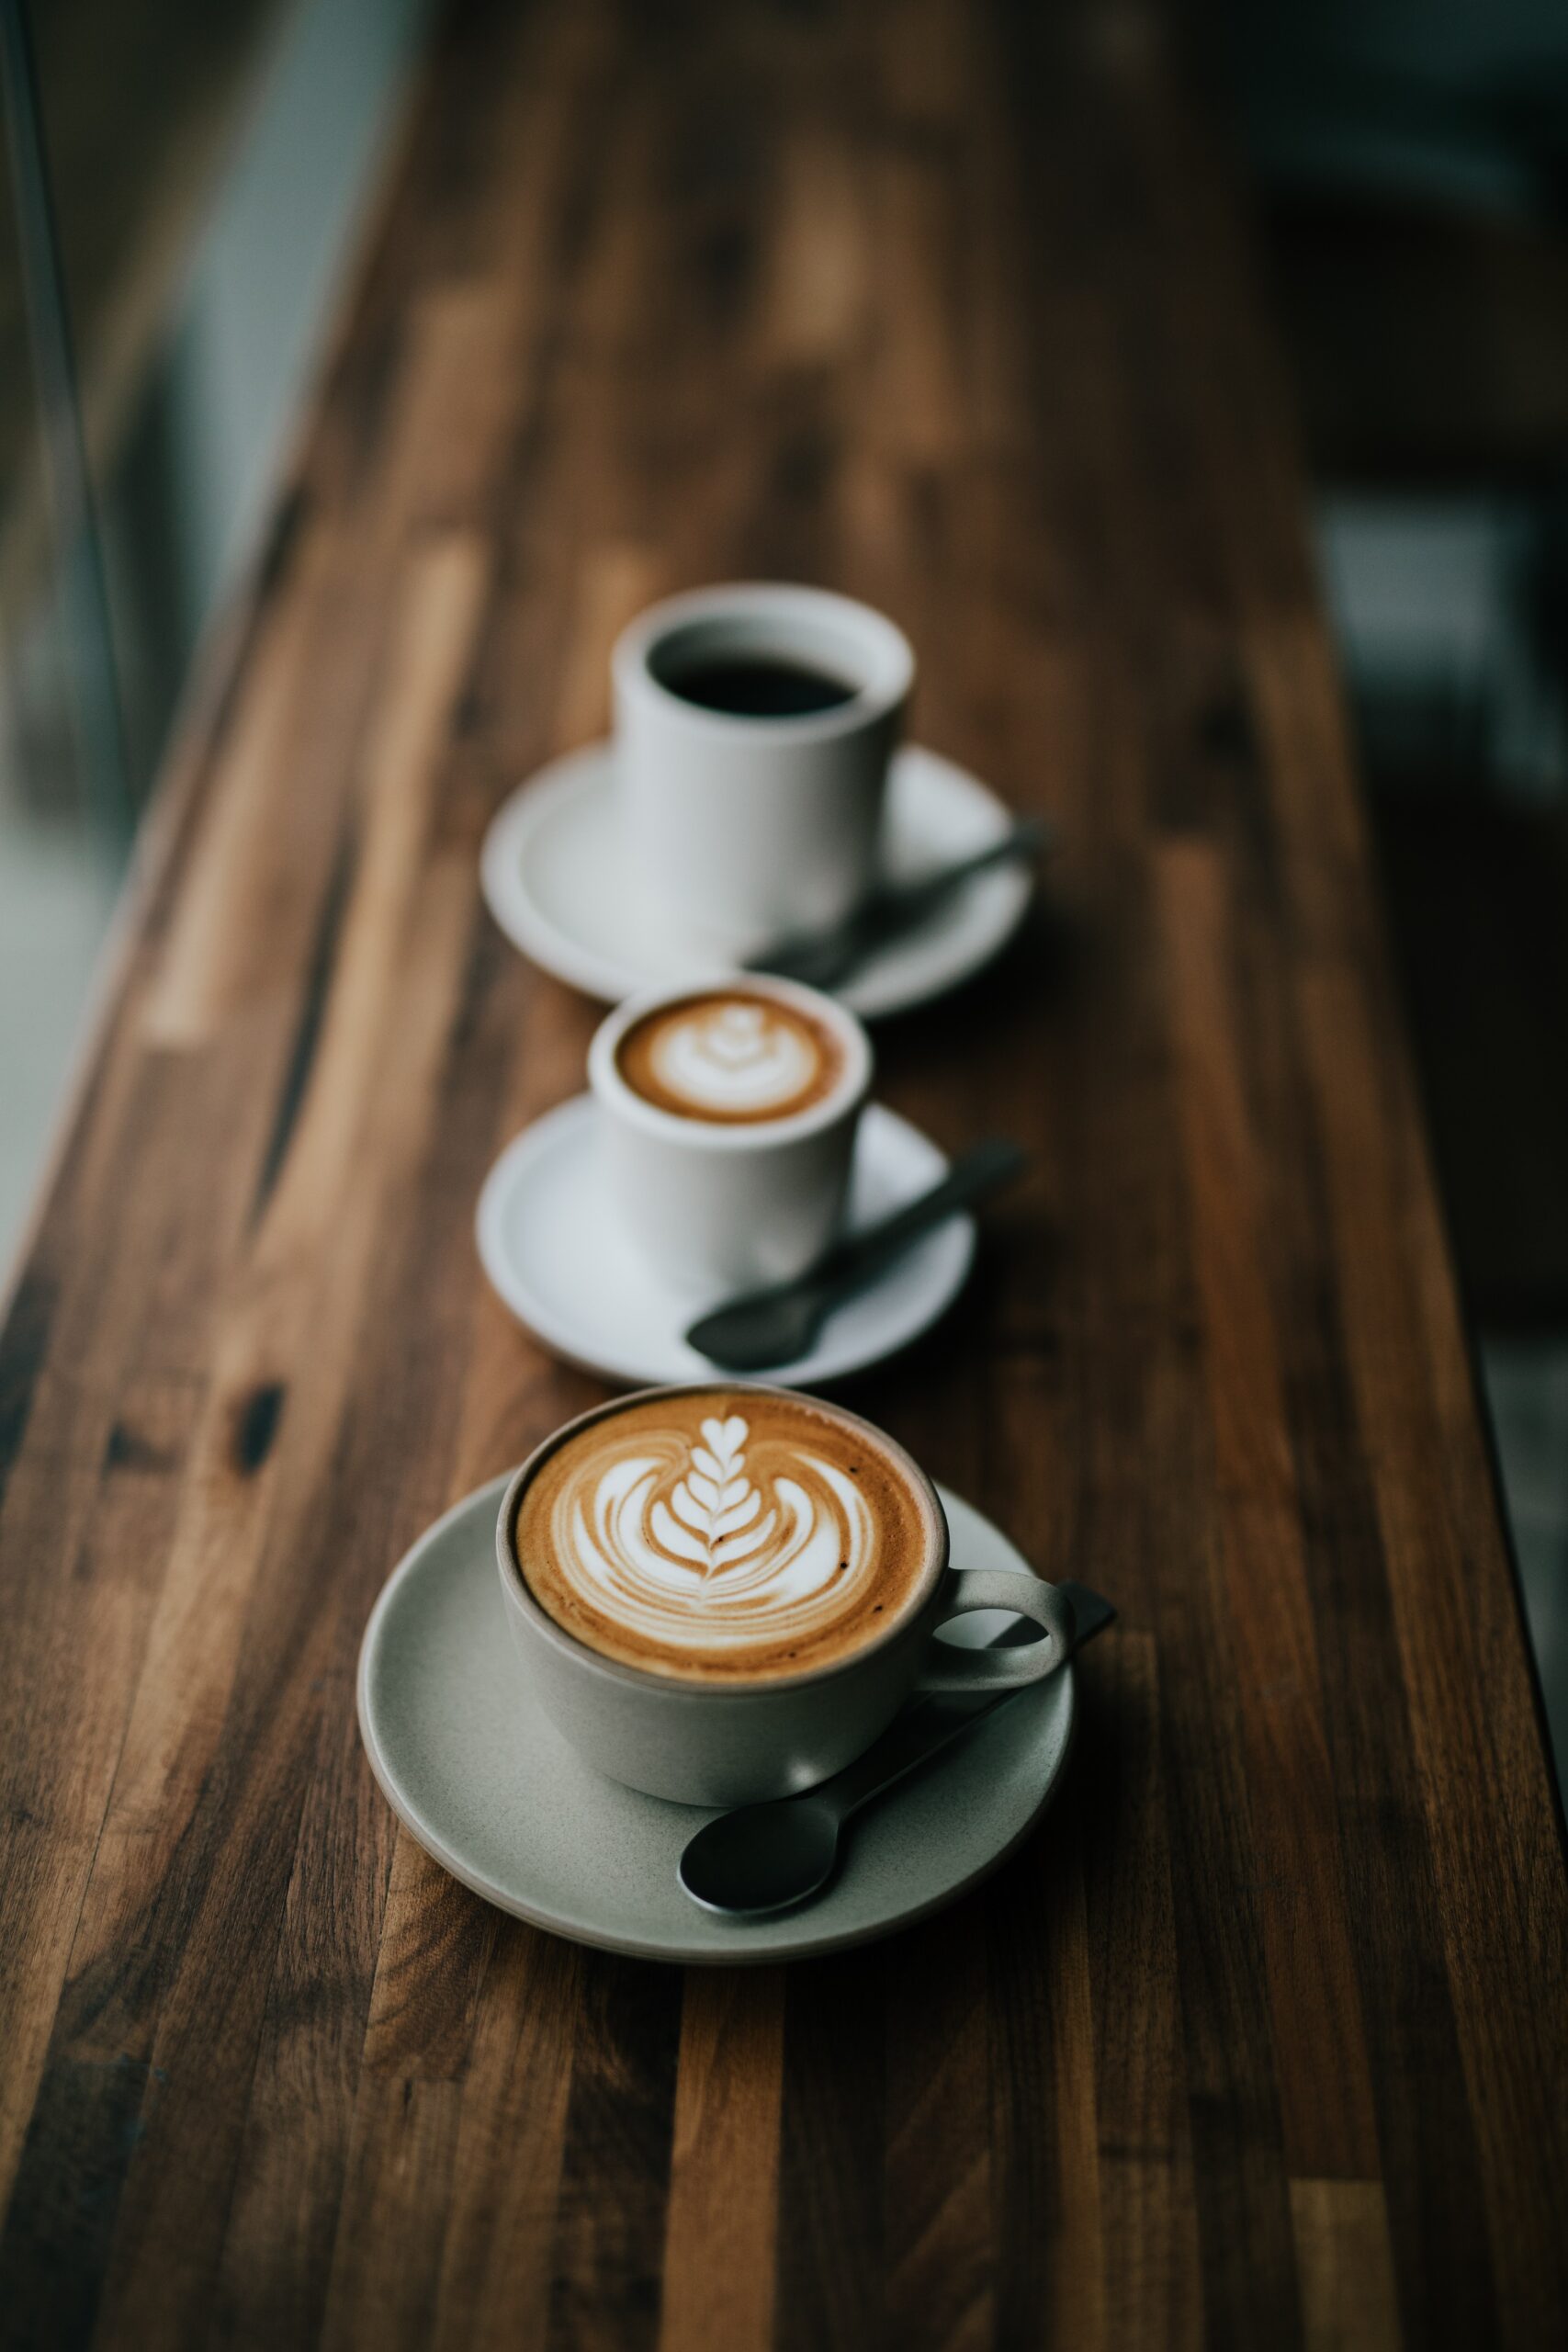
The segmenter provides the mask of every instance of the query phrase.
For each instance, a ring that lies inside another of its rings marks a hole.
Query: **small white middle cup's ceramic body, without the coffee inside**
[[[616,1049],[635,1021],[710,988],[795,1004],[839,1047],[832,1091],[795,1117],[722,1124],[644,1101]],[[745,1291],[802,1275],[844,1218],[872,1044],[851,1011],[816,988],[762,974],[719,974],[628,997],[595,1030],[588,1084],[611,1204],[668,1279],[693,1291]]]

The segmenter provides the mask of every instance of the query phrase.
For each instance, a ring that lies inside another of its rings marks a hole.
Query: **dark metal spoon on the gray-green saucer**
[[[1117,1616],[1112,1604],[1072,1578],[1056,1588],[1072,1602],[1072,1651],[1093,1642]],[[1016,1621],[997,1646],[1034,1637],[1027,1621]],[[1070,1653],[1067,1653],[1070,1656]],[[1039,1689],[1039,1684],[1030,1684]],[[844,1823],[872,1797],[903,1780],[985,1715],[1009,1705],[1018,1691],[997,1696],[919,1698],[905,1708],[879,1740],[799,1797],[776,1797],[771,1804],[743,1804],[719,1813],[686,1842],[679,1858],[679,1882],[703,1910],[733,1919],[766,1919],[780,1910],[809,1903],[832,1879]]]

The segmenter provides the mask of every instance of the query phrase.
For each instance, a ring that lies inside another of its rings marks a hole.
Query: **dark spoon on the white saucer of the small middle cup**
[[[1027,1155],[1016,1143],[976,1143],[973,1150],[952,1162],[929,1192],[835,1242],[827,1256],[797,1275],[795,1282],[750,1291],[745,1298],[731,1298],[701,1315],[686,1331],[686,1343],[726,1371],[769,1371],[773,1364],[792,1364],[806,1352],[823,1319],[842,1298],[870,1282],[922,1232],[1011,1183],[1025,1164]]]

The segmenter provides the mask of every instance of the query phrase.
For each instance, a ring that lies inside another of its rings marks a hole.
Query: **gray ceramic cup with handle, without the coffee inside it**
[[[837,1404],[825,1406],[820,1397],[809,1402],[865,1430],[929,1505],[931,1552],[917,1597],[886,1632],[813,1672],[745,1686],[649,1675],[574,1639],[534,1599],[517,1559],[512,1531],[529,1479],[576,1430],[649,1397],[715,1385],[736,1395],[788,1395],[759,1381],[689,1381],[616,1397],[569,1421],[529,1454],[501,1501],[496,1564],[517,1656],[538,1705],[590,1764],[611,1780],[677,1804],[759,1804],[790,1797],[851,1764],[917,1691],[1013,1691],[1041,1682],[1063,1663],[1072,1649],[1072,1604],[1065,1595],[1025,1576],[952,1566],[947,1519],[926,1472],[870,1421]],[[971,1609],[1034,1618],[1044,1639],[1013,1649],[957,1649],[933,1639],[938,1625]]]

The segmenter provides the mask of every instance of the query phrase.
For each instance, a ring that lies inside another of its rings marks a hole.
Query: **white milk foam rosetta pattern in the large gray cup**
[[[809,1639],[877,1569],[872,1515],[835,1463],[780,1439],[748,1458],[741,1414],[696,1439],[628,1430],[555,1496],[559,1573],[642,1642],[722,1656],[759,1635]]]

